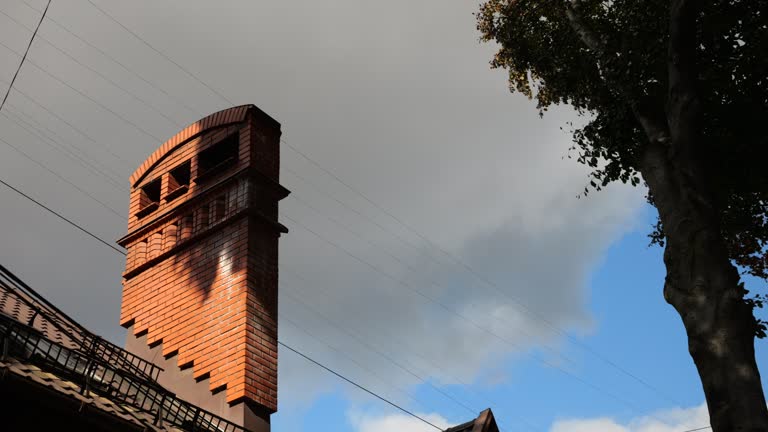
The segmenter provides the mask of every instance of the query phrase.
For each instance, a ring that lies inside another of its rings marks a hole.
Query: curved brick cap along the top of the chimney
[[[185,127],[155,150],[154,153],[152,153],[133,174],[131,174],[131,186],[136,186],[152,167],[160,163],[160,161],[176,147],[208,130],[240,123],[246,119],[248,112],[255,113],[259,119],[271,124],[272,127],[280,128],[280,123],[270,117],[269,114],[260,110],[256,105],[252,104],[240,105],[215,112]]]

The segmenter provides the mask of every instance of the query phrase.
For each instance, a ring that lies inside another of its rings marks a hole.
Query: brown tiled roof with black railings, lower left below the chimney
[[[0,265],[0,376],[138,430],[247,432],[163,388],[160,371],[89,332]]]

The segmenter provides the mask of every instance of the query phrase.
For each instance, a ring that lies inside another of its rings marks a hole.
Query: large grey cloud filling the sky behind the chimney
[[[35,15],[20,2],[9,3],[2,6],[4,11],[28,24],[34,21]],[[593,325],[585,309],[587,276],[606,247],[634,223],[642,204],[641,191],[617,187],[576,199],[586,171],[562,159],[568,136],[559,130],[565,121],[575,120],[574,114],[555,109],[539,119],[529,101],[505,91],[504,73],[488,70],[493,47],[477,42],[471,2],[99,4],[234,103],[255,103],[273,115],[283,124],[286,142],[471,264],[507,295],[521,298],[558,326],[588,331]],[[170,100],[45,23],[43,36],[175,122],[111,88],[42,41],[35,43],[30,58],[151,135],[165,139],[180,124],[227,106],[86,2],[54,4],[50,13],[192,108]],[[19,50],[28,36],[10,24],[0,26],[3,41]],[[0,76],[10,79],[18,58],[2,50],[0,55],[6,65]],[[25,66],[18,88],[96,142],[18,94],[10,99],[13,107],[55,131],[67,145],[83,149],[83,156],[112,175],[126,179],[125,186],[133,169],[160,144],[30,65]],[[111,188],[13,123],[0,119],[0,127],[0,136],[20,143],[31,156],[125,211],[125,192]],[[1,148],[0,152],[4,179],[107,239],[124,233],[124,221],[12,150]],[[299,296],[338,325],[440,383],[472,382],[485,368],[510,355],[537,344],[557,343],[545,325],[516,312],[506,296],[459,271],[460,266],[441,252],[432,249],[434,259],[425,256],[428,245],[422,239],[365,199],[286,146],[282,156],[282,182],[293,191],[282,206],[286,215],[520,347],[500,343],[288,221],[284,222],[291,232],[281,245],[286,293]],[[306,177],[312,185],[287,170]],[[316,188],[373,217],[386,230],[362,220]],[[297,198],[362,234],[374,246],[309,210]],[[121,258],[5,189],[0,189],[0,200],[4,222],[0,260],[84,324],[121,341],[122,330],[117,326]],[[417,271],[411,272],[389,254]],[[281,298],[280,311],[376,371],[381,380],[301,330],[281,324],[281,338],[318,360],[398,400],[404,397],[387,384],[401,388],[416,384],[414,377],[329,327],[287,294]],[[491,319],[495,316],[506,321]],[[338,385],[291,353],[282,351],[280,362],[281,407],[306,405]],[[407,398],[406,402],[413,403]]]

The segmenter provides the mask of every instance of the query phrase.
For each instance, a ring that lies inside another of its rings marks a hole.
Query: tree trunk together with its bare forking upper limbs
[[[595,60],[612,58],[580,15],[565,14]],[[714,432],[768,432],[768,409],[755,361],[756,320],[720,230],[720,210],[700,163],[701,103],[697,91],[696,16],[699,0],[670,0],[666,106],[632,95],[623,78],[603,79],[623,97],[648,144],[639,169],[666,235],[664,298],[680,314],[707,399]]]

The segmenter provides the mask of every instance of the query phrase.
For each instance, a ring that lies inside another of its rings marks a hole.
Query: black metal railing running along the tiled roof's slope
[[[248,432],[176,397],[157,383],[160,367],[91,333],[2,265],[0,293],[32,314],[22,322],[0,313],[0,359],[13,357],[55,372],[80,386],[82,394],[94,393],[149,413],[157,426],[170,424],[193,432]],[[40,330],[50,326],[62,342]]]

